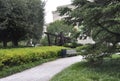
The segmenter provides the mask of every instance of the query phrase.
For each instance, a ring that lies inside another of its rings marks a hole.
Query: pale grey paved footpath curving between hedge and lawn
[[[81,60],[81,56],[61,58],[9,77],[1,78],[0,81],[49,81],[54,75],[63,69]]]

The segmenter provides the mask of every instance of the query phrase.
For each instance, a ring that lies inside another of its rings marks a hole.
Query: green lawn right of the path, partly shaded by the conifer
[[[102,64],[88,62],[73,64],[57,74],[51,81],[120,81],[120,55],[113,55]]]

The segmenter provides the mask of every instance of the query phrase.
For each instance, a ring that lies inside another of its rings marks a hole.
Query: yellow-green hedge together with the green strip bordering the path
[[[64,47],[28,47],[0,50],[0,78],[60,57]]]

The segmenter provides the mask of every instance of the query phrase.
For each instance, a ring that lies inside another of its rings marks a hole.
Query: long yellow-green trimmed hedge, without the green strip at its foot
[[[59,57],[64,47],[46,46],[31,48],[0,49],[0,68],[22,65],[42,59]]]

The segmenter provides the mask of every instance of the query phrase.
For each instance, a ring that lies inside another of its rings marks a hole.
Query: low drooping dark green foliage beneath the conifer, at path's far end
[[[84,45],[77,47],[76,50],[91,63],[101,63],[104,57],[111,56],[110,48],[104,44]]]

